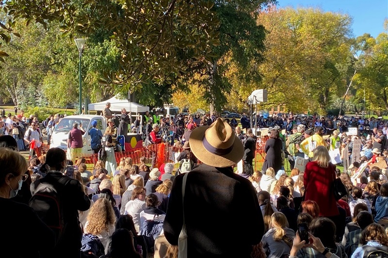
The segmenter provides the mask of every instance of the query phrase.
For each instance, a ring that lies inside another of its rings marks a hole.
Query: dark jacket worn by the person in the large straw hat
[[[188,173],[182,204],[183,176],[175,179],[168,202],[164,220],[167,241],[178,244],[184,205],[188,258],[251,257],[252,245],[260,242],[264,232],[252,183],[234,174],[232,167],[201,164]],[[249,220],[249,227],[246,218],[255,218]]]

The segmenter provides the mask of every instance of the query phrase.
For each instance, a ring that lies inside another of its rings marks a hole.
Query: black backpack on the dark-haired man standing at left
[[[36,187],[35,194],[31,197],[28,205],[54,231],[55,239],[58,242],[65,228],[60,191],[70,182],[71,178],[63,176],[58,181],[48,176],[45,178],[46,180]]]

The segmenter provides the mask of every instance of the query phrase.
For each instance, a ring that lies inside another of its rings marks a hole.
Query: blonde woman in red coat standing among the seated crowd
[[[319,215],[331,217],[339,215],[332,184],[336,178],[336,166],[331,164],[326,147],[318,146],[314,150],[314,159],[308,162],[303,176],[305,200],[318,203]]]

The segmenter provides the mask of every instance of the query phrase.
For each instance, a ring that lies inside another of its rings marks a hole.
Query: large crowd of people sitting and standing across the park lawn
[[[196,119],[148,116],[152,143],[162,141],[158,131],[167,121],[184,143],[178,164],[161,167],[126,157],[91,168],[59,148],[27,163],[17,153],[19,138],[0,136],[0,217],[13,227],[1,242],[16,257],[33,258],[388,256],[387,175],[374,166],[388,158],[380,120],[258,117],[268,128],[258,135],[246,116],[242,128],[233,118]],[[362,132],[368,123],[370,132],[348,136],[345,121]],[[115,133],[108,128],[99,143],[112,148]],[[356,139],[361,158],[340,172],[329,151],[352,150]],[[252,165],[260,144],[261,171]],[[304,171],[297,157],[306,160]],[[37,241],[20,248],[20,236]]]

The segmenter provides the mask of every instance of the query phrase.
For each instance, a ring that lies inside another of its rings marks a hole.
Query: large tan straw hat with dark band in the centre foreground
[[[190,149],[202,163],[230,167],[242,160],[244,146],[232,127],[221,118],[210,126],[200,126],[190,135]]]

